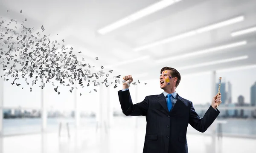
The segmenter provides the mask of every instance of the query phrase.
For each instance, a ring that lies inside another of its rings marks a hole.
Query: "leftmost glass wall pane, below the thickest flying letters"
[[[11,75],[3,76],[3,135],[41,132],[41,82]]]

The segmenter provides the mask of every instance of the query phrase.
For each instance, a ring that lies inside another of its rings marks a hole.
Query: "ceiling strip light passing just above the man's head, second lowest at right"
[[[221,45],[221,46],[217,46],[217,47],[213,47],[213,48],[208,48],[208,49],[204,49],[204,50],[201,50],[201,51],[195,51],[195,52],[188,53],[188,54],[182,54],[182,55],[172,56],[172,57],[169,57],[169,58],[166,58],[166,59],[160,59],[160,60],[157,60],[156,63],[173,62],[175,60],[184,59],[184,58],[187,58],[187,57],[193,57],[193,56],[198,56],[198,55],[201,55],[201,54],[207,54],[207,53],[210,53],[210,52],[213,52],[213,51],[222,51],[224,49],[235,48],[235,47],[238,47],[238,46],[241,46],[241,45],[246,45],[246,44],[247,44],[246,41],[234,42],[234,43],[231,43],[231,44]]]

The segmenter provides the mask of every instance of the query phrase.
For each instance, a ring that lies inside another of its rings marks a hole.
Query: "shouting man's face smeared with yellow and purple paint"
[[[160,75],[160,87],[161,89],[171,88],[173,85],[172,83],[172,76],[171,70],[165,70]]]

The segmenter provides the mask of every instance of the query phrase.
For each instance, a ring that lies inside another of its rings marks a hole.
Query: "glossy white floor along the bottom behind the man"
[[[145,130],[111,128],[0,138],[0,153],[142,153]],[[216,139],[217,140],[217,139]],[[223,137],[216,153],[256,153],[256,139]],[[189,153],[210,153],[211,136],[187,135]],[[222,150],[221,150],[222,149]]]

